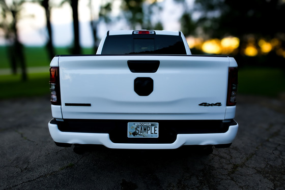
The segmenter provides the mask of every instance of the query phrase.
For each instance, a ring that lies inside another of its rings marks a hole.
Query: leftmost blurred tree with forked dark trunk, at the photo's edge
[[[27,80],[25,56],[23,45],[19,41],[17,23],[20,18],[20,11],[24,0],[6,2],[0,0],[1,12],[4,19],[1,21],[1,27],[4,28],[5,37],[9,41],[9,59],[11,62],[12,72],[16,74],[17,65],[21,68],[22,80]]]

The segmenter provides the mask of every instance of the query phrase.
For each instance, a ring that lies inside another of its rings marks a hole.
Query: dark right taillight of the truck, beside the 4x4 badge
[[[238,68],[229,68],[229,82],[227,83],[227,106],[235,106],[238,91]]]

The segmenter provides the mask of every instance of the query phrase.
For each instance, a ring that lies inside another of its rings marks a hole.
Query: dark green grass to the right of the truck
[[[279,68],[242,68],[238,93],[278,97],[285,92],[285,71]]]

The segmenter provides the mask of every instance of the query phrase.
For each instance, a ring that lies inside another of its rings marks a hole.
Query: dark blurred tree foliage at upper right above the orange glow
[[[285,34],[280,22],[285,18],[282,0],[195,0],[195,5],[202,15],[198,23],[213,38],[254,35],[272,39]]]

